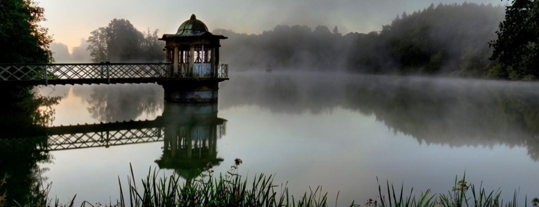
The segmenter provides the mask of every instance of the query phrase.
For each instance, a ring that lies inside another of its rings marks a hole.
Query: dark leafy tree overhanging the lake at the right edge
[[[539,1],[513,0],[497,31],[490,60],[513,68],[509,77],[533,79],[539,75]]]

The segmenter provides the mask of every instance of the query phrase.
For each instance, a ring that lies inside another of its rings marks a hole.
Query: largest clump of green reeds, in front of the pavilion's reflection
[[[119,207],[158,207],[158,206],[328,206],[327,193],[322,193],[322,188],[310,189],[309,193],[297,198],[289,196],[286,184],[281,190],[276,190],[279,185],[273,184],[273,176],[260,174],[255,175],[252,183],[247,183],[237,173],[241,160],[236,159],[236,164],[225,174],[215,175],[211,163],[201,174],[201,178],[186,181],[183,184],[179,176],[174,174],[169,177],[157,179],[157,172],[151,169],[142,187],[136,186],[133,169],[128,180],[129,197],[124,196],[124,190],[120,184]],[[127,200],[127,201],[126,201]],[[352,204],[351,206],[354,206]]]

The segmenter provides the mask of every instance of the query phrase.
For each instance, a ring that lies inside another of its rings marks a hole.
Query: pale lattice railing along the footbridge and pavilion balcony
[[[205,66],[208,66],[206,68]],[[170,63],[94,63],[94,64],[0,64],[0,81],[18,80],[79,80],[170,78]],[[228,64],[219,64],[212,72],[211,65],[196,65],[189,75],[176,74],[178,78],[228,78]]]

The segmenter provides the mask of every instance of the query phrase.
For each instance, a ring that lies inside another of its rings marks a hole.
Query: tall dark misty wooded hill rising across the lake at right
[[[404,12],[381,31],[354,41],[348,70],[485,77],[494,65],[487,60],[491,52],[487,43],[494,39],[502,17],[501,6],[466,2]]]

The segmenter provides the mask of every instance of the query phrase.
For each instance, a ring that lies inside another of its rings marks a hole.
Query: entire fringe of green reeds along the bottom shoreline
[[[198,179],[181,182],[180,177],[172,174],[168,177],[158,178],[159,170],[148,171],[148,176],[142,179],[142,185],[137,185],[133,168],[128,176],[128,189],[122,189],[120,177],[120,198],[115,203],[112,201],[105,206],[110,207],[161,207],[161,206],[329,206],[327,192],[322,188],[310,189],[303,196],[294,197],[288,194],[287,185],[273,184],[273,175],[255,175],[252,183],[247,182],[247,177],[238,174],[238,166],[241,160],[236,159],[226,173],[215,174],[212,164],[208,163]],[[378,178],[376,178],[378,181]],[[0,180],[0,187],[5,178]],[[72,207],[75,197],[67,204],[58,203],[58,199],[49,199],[50,184],[46,187],[37,183],[32,188],[32,195],[25,204],[19,207]],[[405,196],[404,185],[400,192],[395,191],[393,184],[386,181],[386,194],[382,193],[382,185],[378,184],[379,196],[369,199],[362,204],[366,207],[517,207],[519,192],[515,190],[513,199],[507,203],[501,199],[501,190],[486,191],[482,183],[478,188],[466,182],[466,173],[462,180],[455,177],[454,187],[446,194],[433,194],[430,189],[417,195],[412,188],[410,194]],[[398,189],[397,189],[398,190]],[[385,191],[385,190],[384,190]],[[9,195],[8,195],[9,196]],[[76,195],[75,195],[76,196]],[[6,195],[0,196],[0,207],[4,207]],[[335,201],[337,205],[338,194]],[[54,202],[53,202],[54,201]],[[524,206],[527,207],[528,196],[526,195]],[[531,201],[533,207],[539,207],[539,199]],[[82,206],[92,206],[85,201]],[[99,204],[101,206],[101,204]],[[333,206],[333,205],[332,205]],[[359,207],[360,204],[352,202],[349,206]],[[10,206],[11,207],[11,206]]]

